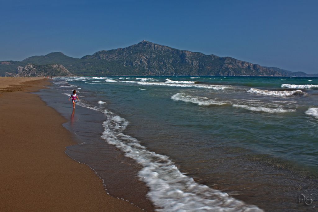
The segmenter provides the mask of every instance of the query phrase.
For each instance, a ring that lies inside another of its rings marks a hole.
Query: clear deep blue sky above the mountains
[[[148,40],[318,73],[318,0],[0,0],[0,61]]]

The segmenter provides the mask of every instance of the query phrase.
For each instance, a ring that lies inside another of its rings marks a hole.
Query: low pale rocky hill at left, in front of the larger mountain
[[[14,77],[42,77],[42,76],[74,76],[63,65],[34,65],[18,66]]]

